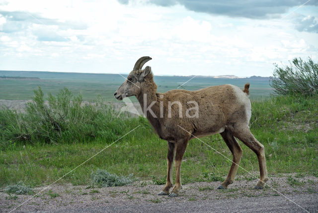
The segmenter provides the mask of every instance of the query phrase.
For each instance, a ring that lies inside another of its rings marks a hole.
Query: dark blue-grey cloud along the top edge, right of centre
[[[118,1],[128,4],[136,0]],[[180,4],[196,12],[252,19],[280,17],[280,14],[287,12],[291,7],[304,3],[302,0],[148,0],[148,2],[159,6]],[[311,0],[306,5],[317,6],[318,1]]]

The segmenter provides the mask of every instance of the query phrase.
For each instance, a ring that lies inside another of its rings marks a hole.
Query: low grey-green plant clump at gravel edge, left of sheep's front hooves
[[[128,176],[118,176],[110,174],[106,170],[97,169],[90,174],[91,184],[100,187],[125,186],[132,184],[136,179],[132,178],[133,174]]]

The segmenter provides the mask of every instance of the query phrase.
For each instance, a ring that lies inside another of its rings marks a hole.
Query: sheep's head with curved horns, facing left
[[[151,67],[146,67],[142,70],[144,64],[151,60],[149,56],[141,57],[137,60],[133,71],[131,71],[126,81],[117,89],[114,96],[118,100],[123,100],[125,97],[137,96],[141,92],[141,84],[145,77],[151,73]]]

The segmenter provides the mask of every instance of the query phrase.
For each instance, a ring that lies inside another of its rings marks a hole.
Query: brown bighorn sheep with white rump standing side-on
[[[256,153],[260,180],[255,189],[262,189],[268,177],[264,146],[255,139],[248,127],[251,116],[251,104],[247,98],[249,84],[245,84],[243,91],[233,85],[221,85],[196,91],[157,93],[151,67],[142,70],[151,59],[148,56],[141,57],[114,96],[118,100],[136,96],[159,137],[168,142],[167,180],[159,195],[175,197],[182,189],[180,167],[188,141],[216,133],[222,135],[233,154],[230,172],[218,189],[227,189],[233,183],[239,167],[242,149],[235,137]],[[175,186],[169,194],[174,156]]]

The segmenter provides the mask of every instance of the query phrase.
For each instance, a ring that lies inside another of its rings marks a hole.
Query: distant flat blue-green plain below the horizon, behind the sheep
[[[4,78],[5,76],[15,78]],[[122,76],[127,77],[127,74]],[[33,96],[33,90],[41,87],[44,94],[56,95],[59,90],[68,88],[74,95],[81,93],[86,101],[95,101],[100,96],[107,102],[118,102],[114,99],[113,94],[125,81],[122,76],[118,74],[0,71],[0,100],[30,100]],[[192,77],[155,76],[155,82],[158,86],[158,92],[166,92],[177,89]],[[252,88],[250,98],[261,99],[269,97],[272,91],[268,80],[268,78],[215,79],[197,76],[179,89],[198,90],[222,84],[233,84],[243,88],[244,84],[249,82]],[[132,101],[137,102],[135,98],[132,98]]]

